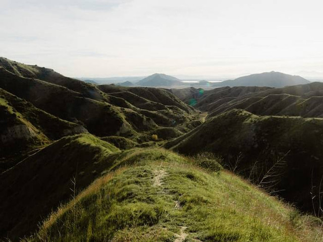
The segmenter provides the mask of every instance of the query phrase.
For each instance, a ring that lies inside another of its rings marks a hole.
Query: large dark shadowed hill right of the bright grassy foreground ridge
[[[317,214],[322,136],[320,118],[261,117],[233,109],[207,119],[166,147],[184,154],[209,151],[221,155],[228,168],[303,211]]]

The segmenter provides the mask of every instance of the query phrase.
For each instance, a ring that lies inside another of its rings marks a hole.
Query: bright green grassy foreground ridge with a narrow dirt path
[[[322,241],[317,220],[232,173],[161,149],[121,160],[27,241]]]

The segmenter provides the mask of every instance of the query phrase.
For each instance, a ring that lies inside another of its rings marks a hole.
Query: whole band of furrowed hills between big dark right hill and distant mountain
[[[266,87],[222,87],[213,90],[172,89],[195,108],[216,116],[239,108],[257,115],[323,117],[323,83]]]

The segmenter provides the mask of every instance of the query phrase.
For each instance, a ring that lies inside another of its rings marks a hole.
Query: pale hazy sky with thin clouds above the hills
[[[321,0],[0,0],[0,56],[71,77],[323,76]]]

